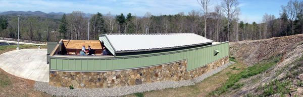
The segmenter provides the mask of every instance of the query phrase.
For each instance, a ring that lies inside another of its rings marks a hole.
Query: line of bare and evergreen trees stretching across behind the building
[[[144,16],[131,13],[112,15],[96,13],[85,17],[80,11],[64,14],[62,19],[42,17],[21,17],[21,39],[35,41],[59,41],[60,39],[86,40],[88,20],[89,38],[97,40],[106,33],[195,33],[208,39],[223,41],[257,40],[303,33],[303,2],[289,1],[281,6],[280,16],[263,16],[262,23],[251,24],[240,21],[238,0],[222,0],[221,5],[209,11],[210,0],[197,0],[201,10],[185,14],[154,16],[147,12]],[[18,18],[0,17],[0,36],[17,38]]]

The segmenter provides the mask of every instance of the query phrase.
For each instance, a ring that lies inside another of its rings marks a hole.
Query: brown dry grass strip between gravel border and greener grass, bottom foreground
[[[236,69],[232,69],[232,68]],[[236,74],[242,71],[242,68],[246,68],[246,65],[241,62],[235,63],[221,72],[214,74],[206,78],[205,80],[196,83],[195,85],[182,86],[178,88],[167,88],[162,90],[153,90],[143,92],[144,96],[161,97],[161,96],[207,96],[210,92],[219,88],[231,74]],[[135,96],[135,94],[129,94],[125,96]]]

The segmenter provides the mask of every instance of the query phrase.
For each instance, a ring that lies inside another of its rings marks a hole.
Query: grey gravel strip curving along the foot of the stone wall
[[[36,81],[34,87],[36,90],[56,96],[121,96],[121,95],[136,93],[136,92],[194,85],[195,83],[200,82],[205,78],[220,72],[221,70],[225,69],[226,67],[228,67],[233,63],[234,62],[229,61],[228,63],[216,69],[213,69],[212,71],[207,72],[204,75],[201,75],[199,77],[190,80],[160,81],[160,82],[153,82],[147,84],[124,86],[124,87],[113,87],[113,88],[75,88],[73,90],[69,89],[68,87],[57,87],[57,86],[48,85],[48,82]]]

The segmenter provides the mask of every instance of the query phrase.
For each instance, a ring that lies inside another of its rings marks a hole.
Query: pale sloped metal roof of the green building
[[[110,48],[114,49],[116,53],[180,48],[214,42],[194,33],[100,35],[100,37],[102,36],[108,39],[112,46]]]

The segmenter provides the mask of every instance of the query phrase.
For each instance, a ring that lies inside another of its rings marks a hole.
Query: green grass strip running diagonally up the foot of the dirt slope
[[[241,78],[248,78],[250,76],[254,76],[260,74],[263,71],[271,68],[273,65],[279,62],[279,58],[282,54],[277,55],[276,57],[271,57],[269,59],[263,60],[262,62],[255,64],[254,66],[245,68],[242,72],[237,74],[232,74],[229,79],[227,79],[226,83],[224,83],[220,88],[209,93],[211,96],[218,96],[224,92],[226,92],[230,87],[233,87],[236,82],[238,82]],[[230,57],[230,60],[234,60],[233,57]],[[235,86],[235,88],[238,86]],[[240,87],[240,84],[239,84]]]

